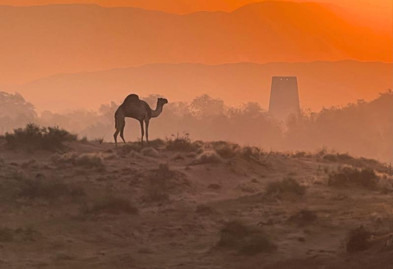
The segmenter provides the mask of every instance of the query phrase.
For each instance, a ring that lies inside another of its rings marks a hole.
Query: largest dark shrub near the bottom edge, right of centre
[[[277,247],[265,233],[246,226],[240,221],[229,221],[220,230],[218,247],[230,248],[240,254],[255,255],[260,252],[272,252]]]

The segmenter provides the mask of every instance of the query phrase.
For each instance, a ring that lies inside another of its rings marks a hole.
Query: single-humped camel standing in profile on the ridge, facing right
[[[141,143],[143,143],[143,120],[146,125],[146,143],[149,142],[149,121],[151,118],[157,118],[161,112],[163,111],[163,107],[168,103],[168,100],[165,98],[158,98],[157,107],[155,110],[152,110],[150,106],[143,100],[139,99],[137,94],[130,94],[125,99],[124,102],[117,108],[114,113],[114,127],[116,131],[113,134],[114,143],[117,147],[117,135],[120,132],[120,137],[124,143],[124,126],[126,125],[125,118],[133,118],[139,120],[140,122],[140,130],[142,134]]]

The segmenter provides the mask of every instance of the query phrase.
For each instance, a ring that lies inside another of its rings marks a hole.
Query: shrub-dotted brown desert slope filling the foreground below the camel
[[[392,254],[393,178],[376,160],[186,134],[117,148],[66,139],[33,152],[24,141],[0,145],[7,267],[23,267],[10,257],[26,253],[51,268],[89,268],[93,256],[97,268],[288,268],[278,260],[296,259],[310,269],[309,259],[336,268],[353,264],[346,255],[367,265],[365,251]]]

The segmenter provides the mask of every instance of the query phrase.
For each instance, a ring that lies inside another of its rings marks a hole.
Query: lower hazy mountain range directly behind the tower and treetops
[[[393,88],[393,64],[337,61],[310,63],[147,64],[99,72],[63,73],[26,84],[3,87],[18,91],[40,111],[97,109],[121,102],[131,93],[159,93],[170,101],[189,101],[208,93],[228,105],[259,102],[268,107],[272,76],[297,76],[303,108],[346,105],[374,99]]]

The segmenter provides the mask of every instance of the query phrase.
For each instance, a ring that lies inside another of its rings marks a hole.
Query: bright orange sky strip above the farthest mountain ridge
[[[89,3],[102,6],[130,6],[176,14],[197,11],[233,11],[241,6],[263,0],[0,0],[0,5],[43,5],[59,3]],[[294,0],[296,2],[333,3],[347,16],[357,18],[363,25],[381,26],[392,30],[392,0]]]

